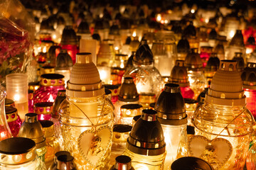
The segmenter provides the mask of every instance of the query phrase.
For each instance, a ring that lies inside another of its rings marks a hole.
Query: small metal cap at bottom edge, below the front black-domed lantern
[[[132,169],[132,159],[125,155],[120,155],[116,157],[114,164],[114,169]]]

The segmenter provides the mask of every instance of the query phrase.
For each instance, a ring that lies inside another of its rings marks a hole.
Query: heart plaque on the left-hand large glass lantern
[[[78,138],[79,152],[87,162],[97,167],[109,149],[111,139],[112,131],[108,126],[103,126],[97,131],[85,130]]]

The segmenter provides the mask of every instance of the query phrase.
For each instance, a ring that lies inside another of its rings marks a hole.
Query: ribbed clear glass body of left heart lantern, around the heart
[[[98,167],[91,166],[82,157],[82,154],[80,154],[78,149],[78,138],[85,130],[91,130],[92,124],[76,106],[87,114],[92,123],[97,125],[97,129],[103,126],[108,126],[111,129],[113,127],[114,113],[112,104],[107,100],[104,103],[104,96],[105,95],[92,98],[67,97],[60,105],[60,128],[56,128],[59,130],[57,135],[59,135],[58,140],[60,142],[60,150],[65,150],[71,153],[71,155],[75,158],[74,163],[78,169],[91,170],[109,168],[108,162],[110,159],[111,145],[109,148],[107,148],[107,152],[101,161],[102,164],[100,164]],[[73,103],[75,103],[76,106],[74,106]],[[100,116],[103,104],[104,109],[102,116]]]

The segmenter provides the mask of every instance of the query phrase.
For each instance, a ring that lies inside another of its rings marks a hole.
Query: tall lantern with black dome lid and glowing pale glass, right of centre
[[[186,145],[188,116],[178,84],[165,84],[164,91],[156,101],[155,110],[166,142],[164,169],[170,169],[175,159],[188,154]]]

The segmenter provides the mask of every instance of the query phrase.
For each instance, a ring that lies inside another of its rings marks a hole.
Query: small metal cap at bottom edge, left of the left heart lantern
[[[70,169],[75,170],[73,163],[74,157],[68,154],[62,154],[57,157],[57,169]]]

